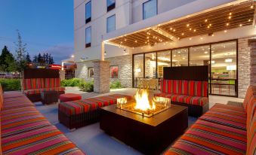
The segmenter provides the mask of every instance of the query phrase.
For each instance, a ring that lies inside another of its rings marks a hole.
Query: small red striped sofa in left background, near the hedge
[[[32,101],[41,101],[41,93],[45,90],[55,90],[59,94],[65,93],[60,87],[60,78],[26,78],[23,79],[23,93]]]

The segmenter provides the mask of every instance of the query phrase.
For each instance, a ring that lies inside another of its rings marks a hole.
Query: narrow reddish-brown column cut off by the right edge
[[[249,39],[248,44],[251,47],[251,79],[250,84],[256,85],[256,39]]]

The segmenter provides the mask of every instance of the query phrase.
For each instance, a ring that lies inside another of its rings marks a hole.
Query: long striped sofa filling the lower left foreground
[[[0,85],[0,107],[0,154],[85,154],[22,93],[3,93]]]

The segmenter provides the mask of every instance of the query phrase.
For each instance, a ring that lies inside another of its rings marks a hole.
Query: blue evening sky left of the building
[[[73,18],[73,0],[0,0],[0,49],[15,53],[19,29],[31,57],[51,53],[60,64],[74,50]]]

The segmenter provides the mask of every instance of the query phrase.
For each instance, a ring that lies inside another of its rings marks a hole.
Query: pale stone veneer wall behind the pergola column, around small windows
[[[124,87],[132,87],[132,55],[116,56],[112,58],[106,58],[106,61],[111,65],[119,66],[119,78],[109,78],[110,82],[120,81]],[[75,71],[76,78],[85,79],[85,81],[91,81],[94,78],[88,78],[88,68],[94,67],[94,61],[78,62],[77,69]]]

